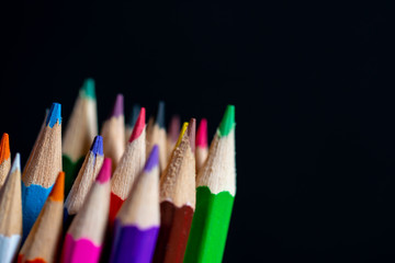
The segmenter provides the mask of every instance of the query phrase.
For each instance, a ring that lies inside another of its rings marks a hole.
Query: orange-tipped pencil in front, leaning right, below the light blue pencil
[[[59,172],[55,185],[18,255],[18,263],[57,262],[63,230],[64,197],[65,172]]]

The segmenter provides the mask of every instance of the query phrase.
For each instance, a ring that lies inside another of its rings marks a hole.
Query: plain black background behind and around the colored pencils
[[[275,2],[275,3],[264,3]],[[26,1],[0,8],[0,133],[24,162],[46,107],[65,124],[93,77],[148,113],[236,105],[237,197],[224,262],[395,261],[390,7]]]

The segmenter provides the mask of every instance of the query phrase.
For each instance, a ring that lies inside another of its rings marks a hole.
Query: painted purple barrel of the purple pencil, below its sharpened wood
[[[115,242],[111,263],[150,263],[159,232],[159,227],[140,229],[115,222]]]

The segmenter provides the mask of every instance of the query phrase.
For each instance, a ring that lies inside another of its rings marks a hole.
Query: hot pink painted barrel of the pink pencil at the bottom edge
[[[100,260],[102,245],[81,238],[75,240],[71,235],[66,235],[61,263],[97,263]]]

